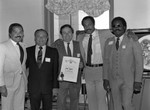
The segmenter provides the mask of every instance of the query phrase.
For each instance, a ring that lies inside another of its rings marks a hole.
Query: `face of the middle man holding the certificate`
[[[64,27],[62,29],[62,39],[65,42],[70,42],[73,38],[72,30],[69,27]]]

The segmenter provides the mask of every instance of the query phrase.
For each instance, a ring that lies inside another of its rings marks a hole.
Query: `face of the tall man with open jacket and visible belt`
[[[91,19],[86,19],[86,20],[84,20],[84,22],[83,22],[83,27],[84,27],[84,31],[85,31],[87,34],[92,34],[93,31],[95,30],[94,24],[93,24],[93,22],[91,21]]]

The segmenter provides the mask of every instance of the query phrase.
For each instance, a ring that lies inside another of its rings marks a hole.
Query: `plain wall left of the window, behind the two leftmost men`
[[[34,44],[34,31],[44,27],[43,0],[0,0],[0,42],[8,39],[8,28],[18,22],[24,27],[24,42]]]

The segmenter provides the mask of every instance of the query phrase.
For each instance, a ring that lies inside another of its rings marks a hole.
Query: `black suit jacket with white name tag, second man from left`
[[[53,88],[58,88],[58,52],[55,48],[46,46],[43,63],[38,68],[35,47],[34,45],[27,48],[28,91],[50,93]]]

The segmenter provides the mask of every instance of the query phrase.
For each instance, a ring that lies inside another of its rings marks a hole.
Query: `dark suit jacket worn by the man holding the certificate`
[[[59,52],[59,73],[60,73],[63,56],[68,56],[66,53],[66,50],[65,50],[64,41],[62,39],[58,39],[54,43],[52,43],[51,46],[57,48],[57,50]],[[79,57],[78,57],[78,55],[79,55]],[[81,56],[81,51],[80,51],[80,45],[79,45],[79,42],[77,42],[77,41],[73,41],[73,57],[78,57],[78,58],[80,58],[80,61],[83,62],[83,59]],[[78,73],[77,82],[78,83],[81,82],[81,71],[79,71],[79,73]]]

